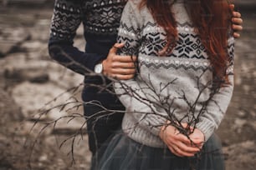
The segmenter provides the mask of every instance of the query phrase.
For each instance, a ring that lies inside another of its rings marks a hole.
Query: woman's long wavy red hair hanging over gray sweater
[[[166,47],[160,52],[172,52],[177,41],[177,22],[170,0],[142,0],[140,7],[147,7],[156,23],[166,31]],[[214,75],[223,80],[228,64],[228,30],[231,11],[226,0],[185,0],[190,16],[207,50]]]

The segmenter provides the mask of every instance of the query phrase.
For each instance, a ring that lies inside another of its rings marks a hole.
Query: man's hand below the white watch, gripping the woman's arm
[[[103,74],[119,80],[127,80],[134,77],[136,73],[135,62],[137,57],[116,55],[117,50],[121,47],[124,47],[124,44],[115,43],[110,48],[108,57],[102,62]]]

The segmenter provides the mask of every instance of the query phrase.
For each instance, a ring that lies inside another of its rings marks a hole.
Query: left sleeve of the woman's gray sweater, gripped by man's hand
[[[120,21],[118,42],[125,43],[120,54],[137,56],[141,46],[141,24],[143,17],[136,1],[128,1]],[[158,135],[161,125],[166,122],[164,110],[149,101],[143,87],[140,87],[140,75],[134,79],[115,82],[115,93],[126,108],[126,114],[132,114],[135,122],[148,132]]]

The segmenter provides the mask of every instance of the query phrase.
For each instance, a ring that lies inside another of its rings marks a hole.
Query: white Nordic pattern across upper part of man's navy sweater
[[[85,34],[116,35],[125,2],[125,0],[56,0],[51,37],[68,38],[64,40],[73,41],[80,23],[84,24]],[[66,20],[69,22],[65,22]],[[63,25],[64,27],[60,27]]]

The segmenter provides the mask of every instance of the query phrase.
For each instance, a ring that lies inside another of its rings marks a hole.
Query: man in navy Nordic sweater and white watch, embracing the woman
[[[116,55],[117,49],[125,45],[115,41],[126,2],[127,0],[55,0],[49,38],[50,56],[81,74],[94,71],[120,80],[134,77],[136,57]],[[242,30],[240,13],[233,13],[233,17],[233,23],[236,24],[233,29]],[[73,46],[75,32],[80,23],[84,25],[85,52]],[[238,32],[234,36],[239,37]],[[90,151],[93,154],[112,133],[120,129],[123,114],[110,114],[107,110],[124,110],[113,94],[99,89],[103,83],[100,76],[87,74],[84,77],[84,116],[87,117]],[[107,84],[109,83],[110,80],[107,80]],[[88,103],[91,101],[100,102],[100,106]],[[107,114],[110,116],[99,116]]]

